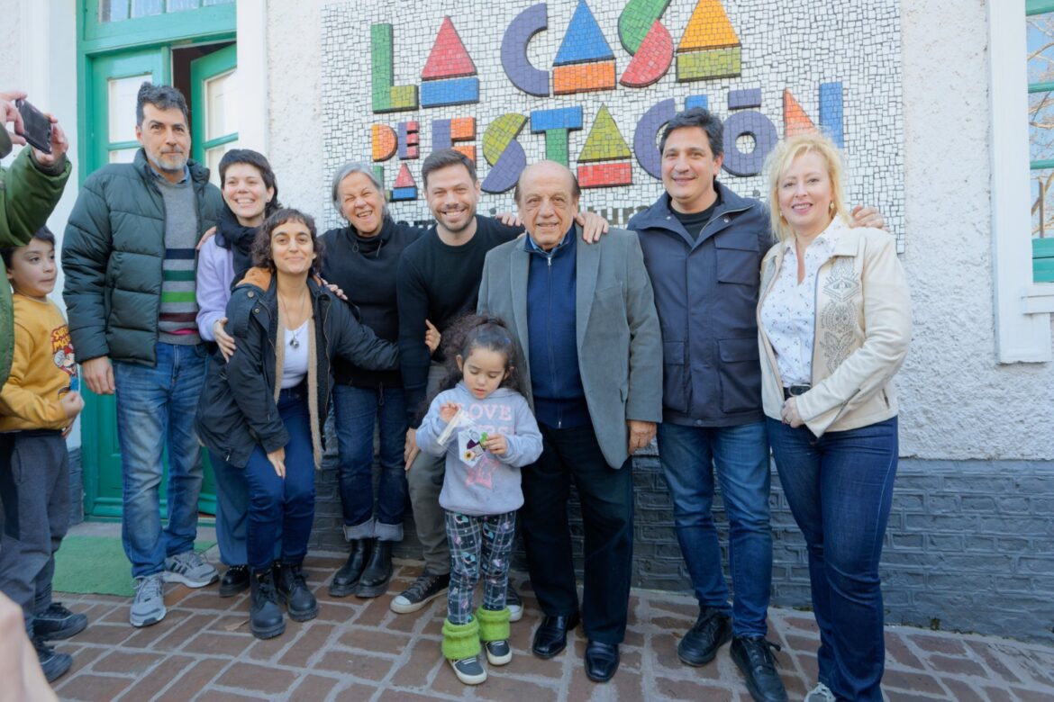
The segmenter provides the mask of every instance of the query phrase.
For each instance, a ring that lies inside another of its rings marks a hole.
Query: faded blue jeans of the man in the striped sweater
[[[191,550],[197,536],[201,493],[201,446],[194,413],[204,381],[202,344],[158,342],[157,365],[114,361],[117,440],[121,449],[124,505],[121,540],[132,577],[164,568],[165,556]],[[161,457],[169,459],[169,525],[161,526]]]

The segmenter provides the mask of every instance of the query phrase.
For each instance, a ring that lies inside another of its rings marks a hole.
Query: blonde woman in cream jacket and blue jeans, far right
[[[768,160],[772,226],[758,330],[768,438],[805,537],[820,628],[811,701],[881,700],[878,563],[897,472],[891,381],[911,338],[893,237],[850,227],[831,139],[794,137]]]

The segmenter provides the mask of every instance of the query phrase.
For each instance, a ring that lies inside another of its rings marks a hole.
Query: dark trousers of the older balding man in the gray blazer
[[[582,503],[585,578],[582,622],[591,641],[621,643],[626,633],[633,556],[631,459],[619,469],[604,460],[591,426],[541,425],[543,450],[523,469],[520,509],[527,567],[542,611],[579,610],[567,499],[571,482]]]

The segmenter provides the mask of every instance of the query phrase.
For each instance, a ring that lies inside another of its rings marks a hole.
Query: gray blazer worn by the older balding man
[[[662,337],[651,281],[637,235],[611,229],[596,244],[575,225],[575,316],[579,372],[597,441],[608,464],[628,457],[626,420],[662,421]],[[527,340],[530,254],[516,239],[487,254],[481,315],[500,317],[516,337],[525,368],[523,394],[533,409]]]

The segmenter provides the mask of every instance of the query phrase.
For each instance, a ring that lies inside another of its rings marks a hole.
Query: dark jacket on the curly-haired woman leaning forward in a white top
[[[315,280],[308,281],[314,324],[309,327],[308,398],[315,466],[321,462],[323,424],[333,387],[332,361],[339,357],[364,368],[398,365],[395,344],[358,323],[351,308]],[[227,304],[227,333],[237,349],[227,363],[216,353],[195,416],[198,438],[236,467],[245,467],[256,444],[271,453],[289,443],[278,416],[285,344],[278,338],[278,286],[270,272],[250,268]]]

